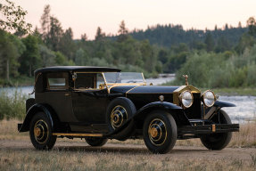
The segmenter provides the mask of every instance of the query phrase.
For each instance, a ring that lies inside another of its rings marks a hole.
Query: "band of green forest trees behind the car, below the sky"
[[[94,40],[88,40],[86,33],[74,39],[72,28],[62,28],[50,5],[45,5],[40,23],[29,32],[10,32],[0,23],[0,85],[22,85],[33,79],[35,69],[55,65],[110,66],[144,72],[145,77],[176,73],[172,85],[183,84],[184,74],[190,84],[200,87],[256,85],[253,17],[246,27],[239,22],[213,30],[186,30],[173,24],[128,30],[122,20],[116,35],[98,27]]]

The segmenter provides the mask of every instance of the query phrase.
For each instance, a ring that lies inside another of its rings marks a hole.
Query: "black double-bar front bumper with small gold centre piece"
[[[204,126],[178,126],[178,134],[214,134],[238,132],[239,124],[213,124]]]

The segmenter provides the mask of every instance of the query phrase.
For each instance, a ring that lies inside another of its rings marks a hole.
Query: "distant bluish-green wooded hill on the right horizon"
[[[241,22],[237,27],[232,27],[226,24],[223,28],[215,26],[214,30],[200,30],[200,29],[188,29],[185,30],[182,25],[157,25],[148,27],[144,30],[134,30],[130,35],[137,40],[148,39],[152,45],[160,45],[165,47],[171,47],[172,45],[178,45],[185,43],[189,48],[198,48],[205,42],[205,38],[211,35],[213,39],[216,51],[223,51],[222,47],[225,46],[225,50],[231,49],[237,45],[240,37],[247,32],[248,28],[243,28]]]

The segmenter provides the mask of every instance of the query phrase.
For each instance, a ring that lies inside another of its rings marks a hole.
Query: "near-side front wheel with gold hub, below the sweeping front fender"
[[[145,145],[153,153],[167,153],[177,140],[177,125],[174,118],[165,111],[151,112],[143,126]]]

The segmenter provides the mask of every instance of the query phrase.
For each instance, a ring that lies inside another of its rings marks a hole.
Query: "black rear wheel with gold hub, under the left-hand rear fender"
[[[37,150],[50,150],[54,147],[57,136],[44,112],[38,112],[29,124],[30,140]]]

